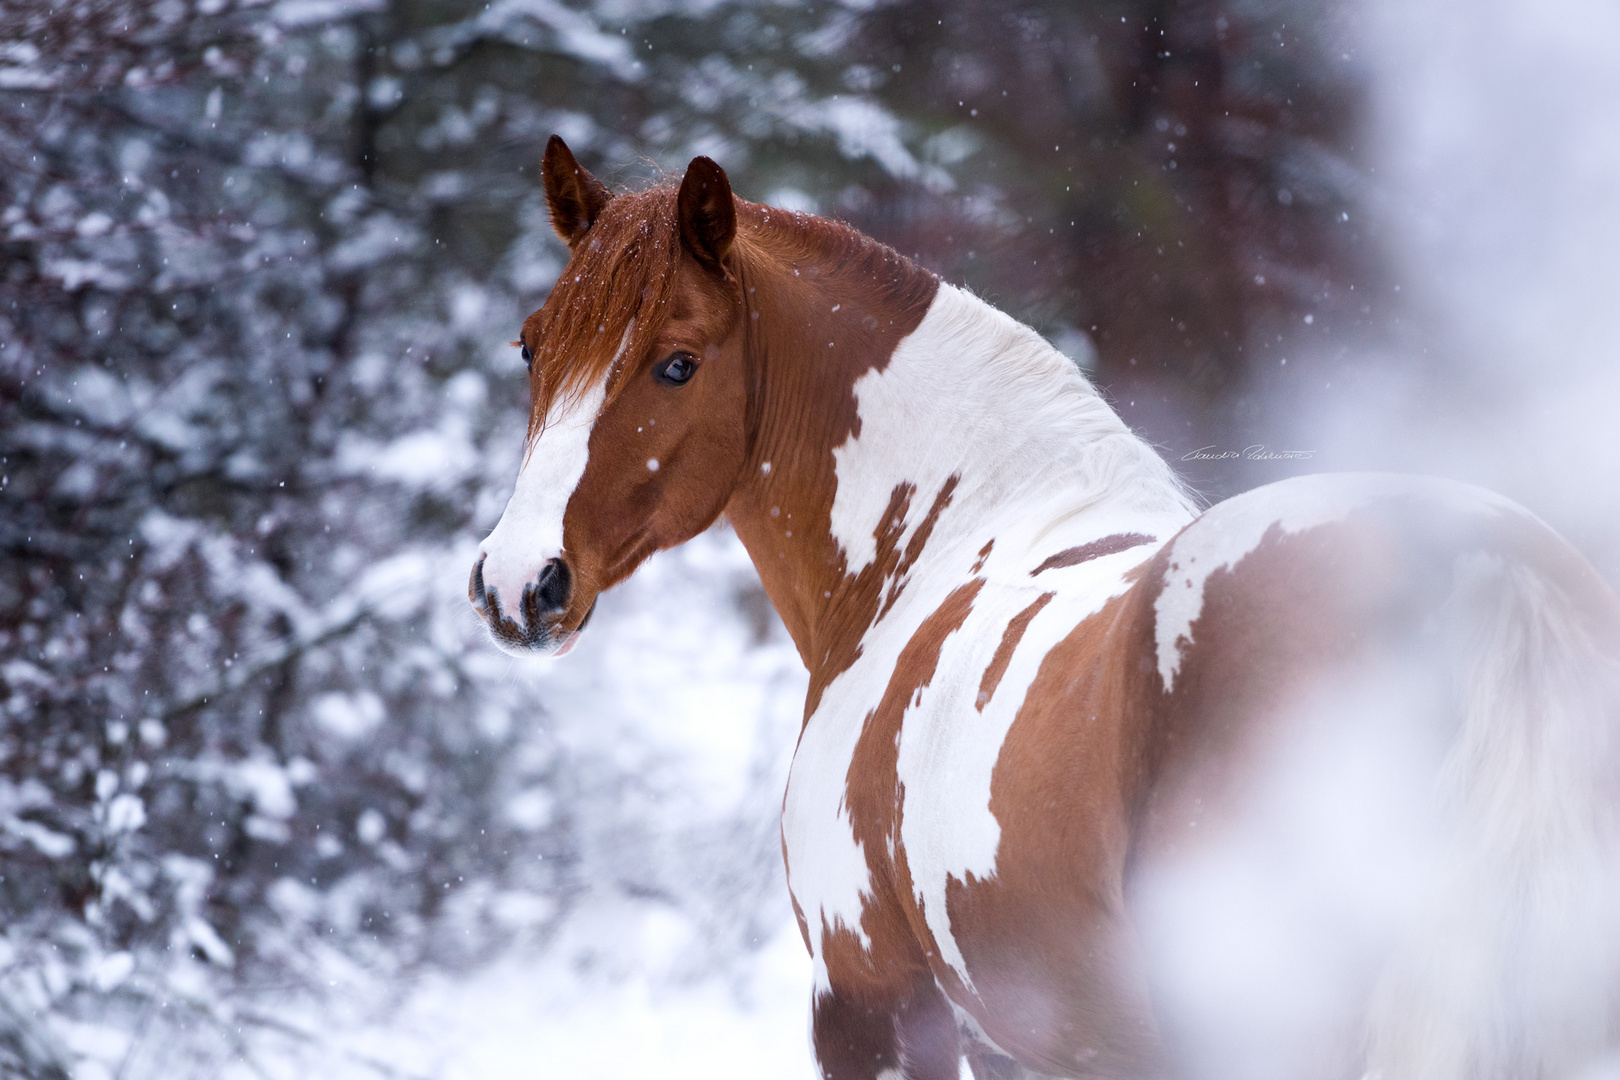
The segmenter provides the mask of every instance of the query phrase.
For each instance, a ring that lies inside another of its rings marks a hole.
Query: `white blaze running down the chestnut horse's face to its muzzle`
[[[562,554],[562,515],[585,476],[591,429],[608,393],[606,377],[585,393],[552,402],[539,439],[530,447],[517,487],[492,533],[478,546],[484,588],[499,589],[501,614],[512,617],[523,586]]]

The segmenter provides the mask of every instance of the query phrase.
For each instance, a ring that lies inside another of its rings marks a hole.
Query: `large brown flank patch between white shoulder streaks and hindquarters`
[[[1142,714],[1132,644],[1144,623],[1152,636],[1144,593],[1108,601],[1045,656],[991,774],[996,873],[946,887],[974,993],[944,965],[935,975],[1043,1074],[1162,1075],[1121,889]]]

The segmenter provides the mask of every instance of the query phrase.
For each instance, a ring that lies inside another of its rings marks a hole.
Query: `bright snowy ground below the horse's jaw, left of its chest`
[[[424,978],[386,1020],[337,1040],[356,1064],[444,1080],[813,1075],[810,960],[774,842],[805,675],[755,589],[718,526],[606,594],[569,657],[501,659],[577,756],[612,758],[642,787],[596,805],[588,858],[608,873],[557,939]],[[731,895],[638,895],[659,889]],[[731,936],[705,918],[750,920],[742,952],[705,955]]]

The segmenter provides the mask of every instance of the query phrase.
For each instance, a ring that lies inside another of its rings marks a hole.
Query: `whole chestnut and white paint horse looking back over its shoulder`
[[[1030,329],[828,220],[611,194],[523,324],[471,599],[565,651],[724,513],[807,667],[782,805],[838,1080],[1573,1077],[1620,1048],[1620,604],[1528,512],[1202,513]]]

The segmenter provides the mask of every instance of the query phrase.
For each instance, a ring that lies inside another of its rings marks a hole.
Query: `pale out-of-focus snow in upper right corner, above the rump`
[[[1369,206],[1422,324],[1296,437],[1523,502],[1620,578],[1620,6],[1367,0]],[[1416,355],[1418,350],[1435,355]]]

